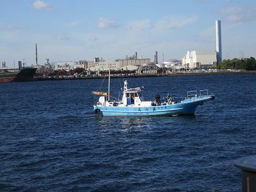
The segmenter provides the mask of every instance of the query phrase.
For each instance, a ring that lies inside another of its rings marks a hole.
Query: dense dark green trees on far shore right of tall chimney
[[[223,60],[218,69],[244,69],[247,71],[256,70],[256,60],[254,57],[246,58],[246,59],[228,59]]]

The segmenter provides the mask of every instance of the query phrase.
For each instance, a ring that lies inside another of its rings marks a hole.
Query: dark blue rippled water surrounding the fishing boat
[[[216,99],[195,116],[105,118],[90,94],[101,79],[0,84],[0,191],[241,191],[233,161],[256,153],[256,74],[128,82],[150,100]]]

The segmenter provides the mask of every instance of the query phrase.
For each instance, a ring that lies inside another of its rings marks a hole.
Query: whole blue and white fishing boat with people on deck
[[[110,72],[109,72],[110,73]],[[143,87],[128,88],[124,81],[123,98],[110,99],[110,74],[108,75],[108,93],[93,91],[99,97],[93,105],[95,113],[103,116],[151,116],[151,115],[188,115],[194,114],[198,105],[215,99],[215,94],[208,94],[208,90],[187,91],[183,99],[173,98],[169,94],[161,102],[157,94],[154,101],[144,101],[141,91]]]

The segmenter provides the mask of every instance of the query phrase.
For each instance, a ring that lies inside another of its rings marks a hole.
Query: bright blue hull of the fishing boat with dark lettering
[[[94,105],[94,112],[103,116],[155,116],[155,115],[189,115],[194,114],[198,105],[211,101],[214,96],[204,96],[198,98],[185,99],[177,104],[162,104],[158,106],[140,107],[113,107]]]

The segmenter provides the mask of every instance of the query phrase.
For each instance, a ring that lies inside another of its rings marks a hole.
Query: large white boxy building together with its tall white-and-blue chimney
[[[182,58],[183,68],[212,68],[222,61],[221,21],[216,20],[216,51],[187,51]]]

